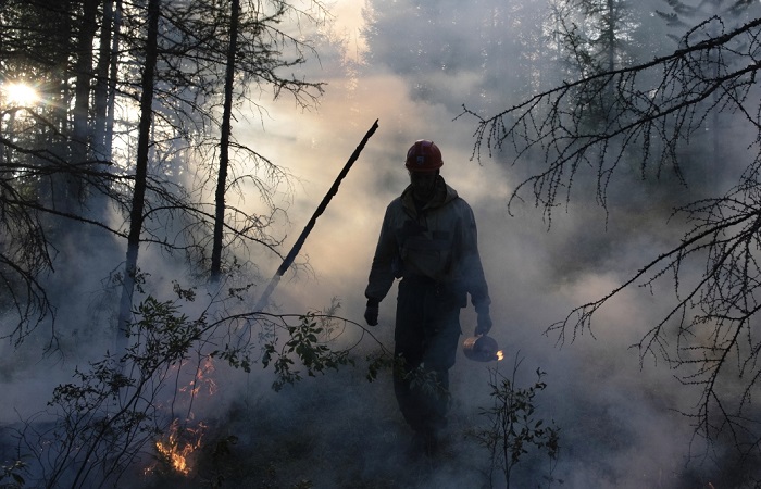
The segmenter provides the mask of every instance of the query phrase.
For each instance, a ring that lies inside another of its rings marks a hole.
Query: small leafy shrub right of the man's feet
[[[535,398],[547,388],[542,380],[546,374],[537,369],[534,385],[519,387],[515,376],[520,364],[516,359],[510,378],[496,368],[491,371],[489,385],[494,404],[479,410],[481,415],[489,422],[489,427],[474,434],[491,455],[490,479],[494,479],[496,469],[501,469],[508,488],[513,468],[529,451],[546,453],[551,466],[557,463],[560,454],[560,428],[554,422],[546,425],[545,419],[537,419]],[[551,475],[549,477],[551,480]]]

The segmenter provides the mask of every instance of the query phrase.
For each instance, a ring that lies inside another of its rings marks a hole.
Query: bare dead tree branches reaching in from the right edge
[[[489,118],[467,108],[462,114],[477,118],[474,158],[499,153],[512,163],[541,162],[509,203],[527,197],[544,210],[548,225],[557,205],[570,201],[581,172],[591,172],[597,201],[608,209],[609,185],[624,165],[643,176],[672,172],[684,181],[694,161],[681,152],[699,141],[698,131],[715,114],[750,134],[744,146],[749,161],[731,175],[732,187],[694,197],[674,211],[688,224],[676,246],[549,328],[561,343],[573,341],[591,330],[596,313],[624,289],[671,277],[668,313],[635,347],[640,359],[665,360],[684,384],[699,389],[697,409],[686,413],[696,435],[709,441],[728,437],[745,454],[761,448],[761,413],[751,403],[761,386],[760,60],[761,18],[728,29],[712,17],[669,55],[564,83]],[[720,166],[728,159],[721,152],[712,156]]]

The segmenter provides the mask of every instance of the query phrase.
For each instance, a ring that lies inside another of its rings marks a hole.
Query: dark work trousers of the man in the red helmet
[[[460,305],[457,293],[434,280],[406,277],[399,283],[394,390],[407,423],[424,435],[447,423],[449,368],[462,334]]]

